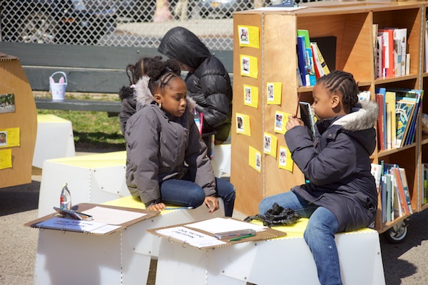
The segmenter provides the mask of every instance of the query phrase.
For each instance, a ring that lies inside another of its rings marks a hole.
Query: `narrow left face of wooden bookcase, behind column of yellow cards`
[[[238,23],[243,26],[258,26],[260,29],[260,48],[240,47]],[[233,19],[233,115],[230,182],[236,188],[235,209],[247,215],[258,213],[258,204],[263,198],[263,175],[248,163],[248,147],[255,147],[263,153],[263,61],[262,61],[262,16],[260,14],[239,14]],[[258,58],[258,78],[240,76],[240,54]],[[244,105],[243,84],[258,87],[258,108]],[[236,113],[250,116],[251,137],[236,133]],[[262,165],[265,162],[262,162]]]

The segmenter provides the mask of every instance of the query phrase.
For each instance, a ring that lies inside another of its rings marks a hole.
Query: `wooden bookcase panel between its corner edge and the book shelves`
[[[264,131],[275,134],[275,112],[281,111],[294,115],[297,110],[297,27],[296,16],[267,14],[265,16],[264,38],[264,82],[267,94],[267,82],[282,83],[281,105],[264,105]],[[266,97],[266,95],[265,95]],[[285,147],[284,135],[276,133],[279,146]],[[262,137],[263,138],[263,137]],[[286,192],[294,185],[305,182],[302,172],[294,165],[292,172],[278,167],[278,157],[264,155],[265,176],[264,197]]]

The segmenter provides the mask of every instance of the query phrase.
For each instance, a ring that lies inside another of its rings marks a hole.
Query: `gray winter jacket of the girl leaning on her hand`
[[[137,112],[126,122],[126,185],[133,197],[146,205],[161,202],[159,183],[181,179],[188,172],[191,180],[215,195],[215,176],[207,147],[193,120],[194,103],[182,117],[165,113],[155,103],[143,76],[135,88]]]

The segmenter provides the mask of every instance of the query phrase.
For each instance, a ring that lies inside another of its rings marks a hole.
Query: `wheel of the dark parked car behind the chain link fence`
[[[41,12],[29,14],[22,21],[19,38],[24,43],[54,43],[56,23]]]

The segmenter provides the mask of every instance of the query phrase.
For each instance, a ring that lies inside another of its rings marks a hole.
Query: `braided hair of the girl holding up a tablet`
[[[354,76],[345,71],[332,71],[317,80],[317,84],[323,84],[330,93],[342,94],[342,103],[346,110],[351,110],[358,103],[358,85]]]

